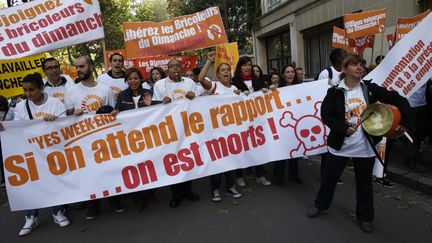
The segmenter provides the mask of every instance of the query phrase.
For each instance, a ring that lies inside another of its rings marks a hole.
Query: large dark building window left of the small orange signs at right
[[[324,68],[330,67],[329,60],[332,47],[333,26],[343,28],[343,18],[302,31],[305,49],[306,77],[314,78]]]

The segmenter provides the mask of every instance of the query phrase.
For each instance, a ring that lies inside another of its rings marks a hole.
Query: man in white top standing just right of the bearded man
[[[117,100],[117,95],[128,88],[124,79],[124,58],[120,53],[114,53],[110,56],[111,70],[97,78],[97,82],[104,84],[112,89]]]

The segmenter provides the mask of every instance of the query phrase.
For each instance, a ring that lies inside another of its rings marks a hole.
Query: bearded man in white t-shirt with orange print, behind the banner
[[[96,113],[103,105],[114,107],[113,91],[108,86],[94,80],[94,65],[91,58],[88,56],[77,58],[76,66],[81,82],[66,92],[65,106],[67,114]]]

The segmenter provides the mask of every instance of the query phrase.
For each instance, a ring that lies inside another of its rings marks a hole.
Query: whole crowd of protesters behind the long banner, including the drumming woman
[[[382,59],[383,57],[379,56],[376,60],[377,64]],[[154,67],[149,72],[149,80],[144,80],[138,69],[125,69],[123,56],[115,53],[110,56],[111,69],[95,79],[91,58],[82,56],[76,59],[78,79],[74,81],[61,73],[60,64],[55,58],[48,58],[42,64],[45,79],[42,79],[38,73],[24,78],[22,84],[24,94],[21,101],[11,101],[0,96],[0,116],[2,121],[44,119],[46,122],[58,117],[80,116],[85,113],[109,113],[115,116],[125,110],[169,104],[184,98],[192,100],[200,95],[247,96],[252,92],[266,93],[272,89],[299,85],[305,80],[304,70],[291,63],[283,67],[280,72],[272,69],[271,73],[265,75],[262,68],[253,65],[252,60],[247,56],[240,57],[236,67],[231,67],[228,63],[215,67],[216,80],[211,80],[208,73],[214,61],[215,53],[209,52],[202,69],[182,70],[181,62],[171,59],[166,71],[161,67]],[[408,151],[406,164],[411,169],[423,171],[426,164],[419,151],[422,141],[428,135],[431,139],[431,121],[425,114],[431,110],[432,90],[429,82],[406,100],[395,92],[363,80],[362,78],[373,67],[367,68],[361,57],[348,55],[342,49],[335,49],[330,54],[330,61],[332,66],[324,69],[316,77],[316,79],[327,79],[331,87],[321,110],[323,122],[330,128],[327,140],[329,151],[321,156],[321,186],[314,205],[307,210],[307,216],[316,217],[321,211],[330,207],[336,185],[342,183],[340,176],[348,161],[352,160],[357,184],[357,219],[364,232],[371,232],[374,217],[372,190],[372,169],[376,156],[372,149],[374,144],[368,142],[368,135],[363,132],[361,126],[351,124],[347,120],[346,114],[359,106],[364,108],[365,104],[378,101],[396,105],[404,118],[398,131],[401,133],[408,131],[414,138],[414,143],[400,138]],[[100,99],[96,103],[87,104],[83,100],[88,95],[98,96]],[[362,100],[363,104],[348,104],[348,100],[351,99]],[[1,122],[0,129],[3,129]],[[378,142],[377,139],[374,141]],[[387,150],[392,147],[393,141],[388,140]],[[209,185],[210,199],[220,202],[223,194],[232,198],[242,197],[236,187],[246,186],[245,173],[254,174],[256,182],[264,186],[283,185],[286,164],[288,164],[288,180],[301,184],[303,180],[300,177],[298,160],[292,158],[273,161],[271,175],[266,173],[263,165],[212,175]],[[389,156],[386,156],[386,162],[388,160]],[[1,183],[4,186],[3,166],[1,168]],[[222,178],[225,178],[223,189]],[[377,178],[376,182],[383,186],[392,186],[385,177]],[[172,199],[169,206],[172,208],[180,206],[184,199],[190,201],[200,199],[193,192],[192,181],[172,185],[171,191]],[[138,206],[142,206],[145,204],[146,197],[153,193],[155,190],[136,192],[132,198]],[[121,200],[121,196],[114,196],[107,201],[116,212],[121,213],[125,210]],[[98,216],[100,203],[100,200],[86,203],[88,220]],[[53,207],[52,215],[54,222],[60,227],[70,224],[65,206]],[[25,224],[19,235],[31,233],[38,224],[38,209],[28,210]]]

